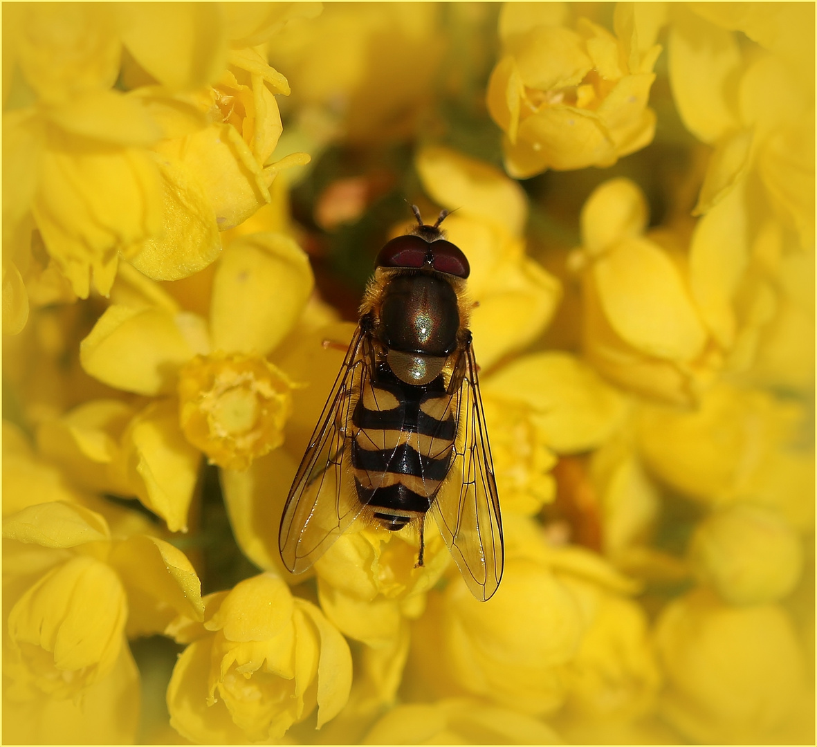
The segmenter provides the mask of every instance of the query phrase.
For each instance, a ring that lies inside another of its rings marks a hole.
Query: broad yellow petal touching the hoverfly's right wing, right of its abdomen
[[[563,454],[600,445],[625,413],[618,391],[566,353],[524,356],[485,377],[482,387],[497,400],[533,408],[547,444]]]

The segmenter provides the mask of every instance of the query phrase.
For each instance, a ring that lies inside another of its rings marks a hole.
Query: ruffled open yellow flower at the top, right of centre
[[[516,3],[502,8],[502,57],[488,87],[488,108],[505,137],[513,177],[610,166],[649,145],[655,114],[647,107],[661,47],[653,16],[659,3],[615,11],[616,35],[579,18],[569,29],[557,13]]]

